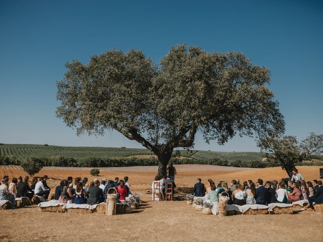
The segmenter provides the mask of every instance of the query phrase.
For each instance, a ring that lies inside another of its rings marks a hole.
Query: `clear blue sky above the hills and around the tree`
[[[64,64],[116,48],[158,63],[172,45],[241,51],[271,71],[286,134],[323,133],[322,1],[0,1],[0,143],[142,146],[117,132],[76,136],[55,116]],[[253,139],[195,149],[258,151]]]

